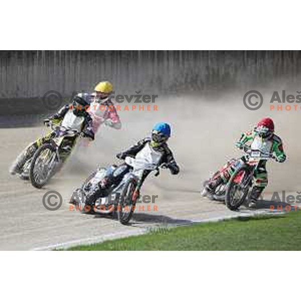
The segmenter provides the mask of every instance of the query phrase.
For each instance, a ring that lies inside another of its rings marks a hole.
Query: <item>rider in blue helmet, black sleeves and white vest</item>
[[[168,123],[160,122],[155,124],[152,130],[152,137],[146,137],[137,141],[128,149],[116,155],[120,160],[130,156],[140,160],[146,159],[148,163],[152,162],[155,165],[161,166],[162,164],[168,168],[173,175],[177,175],[180,171],[173,153],[167,145],[167,140],[171,136],[171,126]],[[129,166],[126,163],[121,164],[114,171],[114,175],[110,175],[103,179],[99,185],[102,188],[109,187],[112,181],[122,179],[128,173]],[[149,171],[144,171],[142,182],[145,180]]]

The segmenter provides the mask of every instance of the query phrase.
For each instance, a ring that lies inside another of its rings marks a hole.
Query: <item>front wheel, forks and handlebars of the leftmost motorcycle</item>
[[[36,188],[42,188],[60,170],[72,150],[70,138],[77,139],[81,135],[76,129],[66,129],[51,121],[48,126],[53,130],[53,137],[42,144],[27,163],[30,181]]]

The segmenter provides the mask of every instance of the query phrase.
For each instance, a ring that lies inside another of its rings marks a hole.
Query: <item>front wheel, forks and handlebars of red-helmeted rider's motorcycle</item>
[[[261,160],[275,157],[259,149],[245,146],[245,156],[235,164],[235,172],[227,183],[225,203],[230,210],[237,210],[246,199],[253,186],[254,172]]]

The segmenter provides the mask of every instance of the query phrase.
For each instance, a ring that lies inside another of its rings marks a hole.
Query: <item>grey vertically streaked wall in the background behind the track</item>
[[[117,93],[244,88],[300,70],[298,51],[0,51],[0,99],[71,95],[101,79]]]

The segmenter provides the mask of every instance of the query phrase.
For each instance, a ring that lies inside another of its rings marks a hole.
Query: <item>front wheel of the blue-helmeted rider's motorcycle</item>
[[[122,189],[117,206],[117,217],[121,224],[126,225],[133,216],[136,204],[134,196],[137,183],[135,179],[129,179]]]

